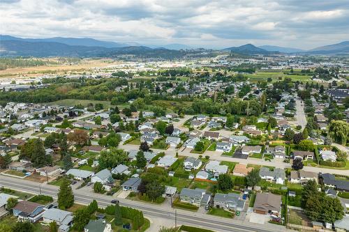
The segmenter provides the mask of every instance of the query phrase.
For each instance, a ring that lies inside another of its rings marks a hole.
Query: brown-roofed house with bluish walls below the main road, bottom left
[[[13,216],[18,218],[21,222],[35,223],[43,215],[43,205],[31,201],[18,201],[17,205],[13,207]]]

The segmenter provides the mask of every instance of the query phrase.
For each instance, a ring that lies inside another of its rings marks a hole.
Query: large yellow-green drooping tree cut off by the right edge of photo
[[[329,137],[338,144],[346,145],[349,138],[349,123],[345,121],[331,121],[329,123]]]

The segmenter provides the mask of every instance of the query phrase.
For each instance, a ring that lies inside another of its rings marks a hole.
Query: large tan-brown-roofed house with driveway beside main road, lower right
[[[262,215],[281,215],[281,195],[276,195],[269,192],[258,193],[255,196],[253,212],[257,212]]]

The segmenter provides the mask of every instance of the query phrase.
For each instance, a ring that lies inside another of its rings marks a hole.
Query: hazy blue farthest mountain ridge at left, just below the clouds
[[[25,42],[60,42],[60,43],[63,43],[65,45],[87,46],[87,47],[127,47],[127,46],[130,46],[126,43],[101,41],[101,40],[95,40],[93,38],[63,38],[63,37],[18,38],[18,37],[14,37],[14,36],[0,35],[0,41],[5,41],[5,40],[20,40],[20,41],[25,41]]]

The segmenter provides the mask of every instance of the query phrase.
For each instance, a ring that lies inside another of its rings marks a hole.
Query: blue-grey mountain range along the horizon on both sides
[[[191,47],[181,44],[147,45],[95,40],[93,38],[18,38],[0,35],[0,56],[114,56],[133,54],[142,57],[179,58],[184,56]],[[192,50],[192,49],[191,49]],[[239,47],[228,47],[223,51],[236,54],[349,54],[349,41],[335,45],[317,47],[308,51],[292,47],[273,45],[246,44]]]

